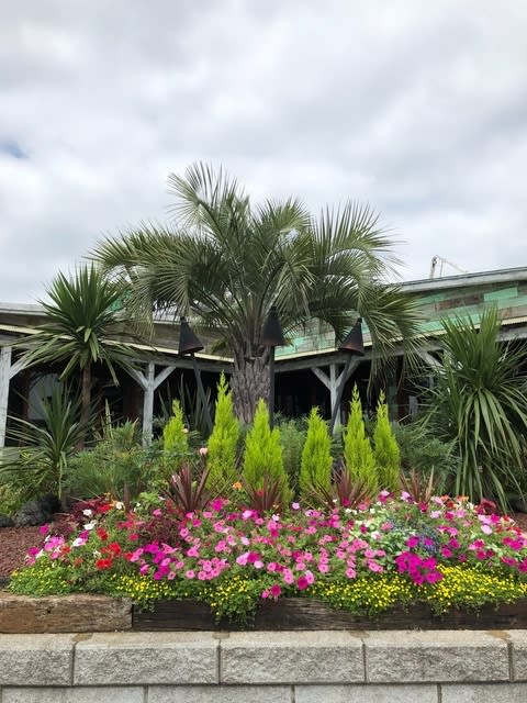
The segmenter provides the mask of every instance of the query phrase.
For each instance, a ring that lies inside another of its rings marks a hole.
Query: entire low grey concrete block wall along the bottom
[[[0,703],[527,701],[527,631],[0,635]]]

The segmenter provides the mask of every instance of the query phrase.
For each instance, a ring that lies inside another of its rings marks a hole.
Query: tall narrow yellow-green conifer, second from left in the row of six
[[[236,448],[239,439],[239,423],[234,414],[233,397],[224,373],[217,384],[214,428],[209,438],[209,482],[218,489],[231,488],[238,479]]]

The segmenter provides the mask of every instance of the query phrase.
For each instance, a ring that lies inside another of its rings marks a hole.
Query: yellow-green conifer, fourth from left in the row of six
[[[313,489],[328,491],[332,482],[332,439],[317,408],[312,408],[300,467],[300,494],[307,498]]]

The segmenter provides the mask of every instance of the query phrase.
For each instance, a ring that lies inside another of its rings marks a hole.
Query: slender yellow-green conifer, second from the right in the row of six
[[[379,478],[370,440],[366,434],[359,390],[354,388],[348,423],[344,432],[344,462],[354,482],[365,486],[369,493],[379,490]]]

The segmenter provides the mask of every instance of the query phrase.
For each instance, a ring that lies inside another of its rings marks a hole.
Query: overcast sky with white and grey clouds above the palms
[[[195,160],[369,203],[404,280],[527,266],[527,2],[0,0],[0,301],[166,220]]]

